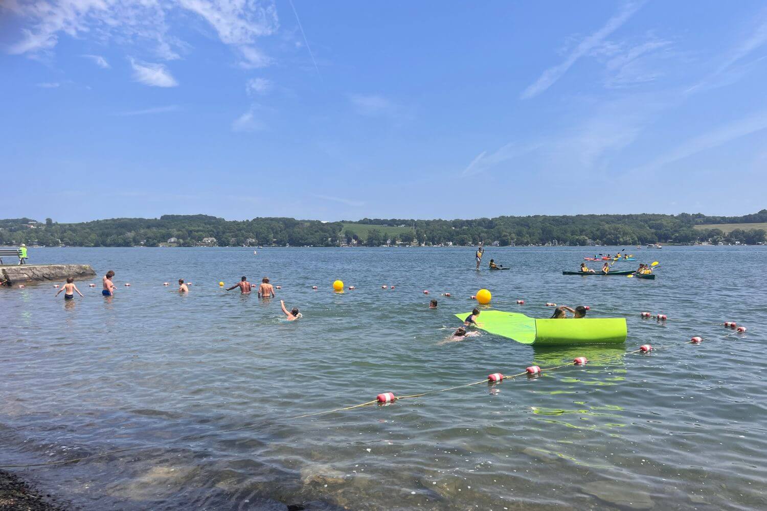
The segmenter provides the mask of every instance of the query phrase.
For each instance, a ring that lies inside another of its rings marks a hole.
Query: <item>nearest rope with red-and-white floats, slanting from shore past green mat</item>
[[[735,325],[735,323],[729,323],[729,324],[728,323],[729,322],[727,322],[725,324],[729,328],[732,328],[732,326]],[[715,324],[716,325],[720,325],[721,323],[715,323]],[[726,339],[727,337],[732,336],[732,335],[734,335],[736,333],[745,333],[745,332],[746,332],[745,327],[741,326],[741,327],[738,327],[738,329],[733,330],[732,332],[726,333],[724,336],[719,336],[719,337],[701,337],[701,336],[695,336],[692,339],[690,339],[689,341],[683,342],[683,344],[700,344],[700,342],[703,342],[703,340],[721,340],[721,339]],[[680,345],[671,344],[671,345],[667,345],[667,346],[651,346],[650,344],[645,344],[643,346],[640,346],[639,349],[634,349],[633,351],[630,351],[630,352],[617,353],[616,355],[607,355],[607,356],[601,357],[599,359],[593,359],[593,360],[591,360],[591,362],[606,363],[606,362],[610,361],[611,359],[618,359],[618,358],[621,358],[621,357],[625,357],[626,355],[635,355],[637,353],[647,353],[647,352],[656,351],[658,349],[675,348],[677,346],[680,346]],[[503,380],[506,380],[506,379],[515,379],[515,378],[518,378],[520,376],[525,376],[525,375],[527,375],[527,376],[538,376],[538,375],[541,375],[544,372],[551,372],[551,371],[555,371],[557,369],[563,369],[565,367],[573,367],[574,365],[586,365],[588,362],[589,361],[588,361],[588,359],[586,359],[586,357],[577,357],[570,364],[555,365],[553,367],[548,367],[548,368],[545,368],[545,369],[541,369],[540,367],[538,367],[538,365],[531,365],[530,367],[525,369],[525,372],[518,372],[518,373],[516,373],[514,375],[502,375],[501,373],[497,373],[496,372],[496,373],[493,373],[492,375],[489,375],[487,378],[485,378],[483,380],[480,380],[479,382],[466,383],[466,384],[463,384],[463,385],[454,385],[452,387],[439,388],[439,389],[436,389],[436,390],[433,390],[433,391],[420,392],[418,394],[396,396],[396,395],[393,394],[393,392],[384,392],[383,394],[377,395],[377,397],[375,399],[373,399],[371,401],[366,401],[364,403],[360,403],[358,405],[345,406],[345,407],[342,407],[342,408],[331,408],[330,410],[323,410],[323,411],[315,411],[315,412],[313,412],[311,414],[296,415],[295,417],[284,418],[282,420],[285,420],[285,421],[295,421],[295,420],[302,419],[302,418],[317,417],[318,415],[331,414],[331,413],[338,412],[338,411],[354,410],[355,408],[363,408],[365,406],[370,406],[370,405],[375,405],[375,404],[381,404],[381,405],[389,404],[389,403],[393,403],[394,401],[400,401],[402,399],[421,398],[421,397],[426,396],[426,395],[433,395],[433,394],[438,394],[440,392],[453,391],[453,390],[456,390],[458,388],[472,387],[473,385],[480,385],[482,383],[495,384],[495,383],[502,382]],[[228,430],[218,431],[218,433],[220,434],[220,433],[232,433],[232,432],[235,432],[235,431],[242,431],[242,430],[245,430],[245,429],[250,429],[252,427],[255,427],[256,425],[258,425],[258,423],[255,423],[255,424],[245,424],[244,426],[235,427],[235,428],[228,429]],[[120,454],[120,453],[123,453],[123,452],[127,452],[129,450],[149,449],[151,447],[157,447],[159,445],[167,444],[169,442],[185,441],[185,440],[189,440],[189,439],[192,439],[192,438],[196,438],[196,439],[199,440],[199,435],[186,435],[185,437],[179,437],[179,438],[174,438],[174,439],[166,439],[166,440],[163,440],[163,441],[153,442],[151,444],[144,444],[144,445],[133,446],[133,447],[122,447],[120,449],[107,450],[107,451],[104,451],[103,453],[91,454],[90,456],[73,458],[73,459],[70,459],[70,460],[48,461],[48,462],[38,463],[38,464],[0,465],[0,468],[51,467],[51,466],[54,466],[54,465],[75,464],[75,463],[81,463],[81,462],[87,461],[87,460],[94,460],[94,459],[99,458],[99,457],[110,456],[111,454]]]

